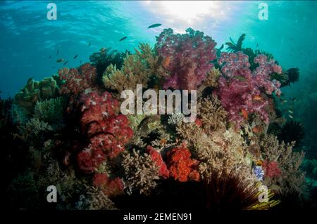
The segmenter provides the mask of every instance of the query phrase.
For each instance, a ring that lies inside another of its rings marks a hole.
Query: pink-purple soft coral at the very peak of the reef
[[[164,29],[156,39],[157,52],[165,58],[166,77],[164,88],[193,90],[206,79],[216,59],[216,42],[203,32],[186,29],[186,34],[173,34],[173,29]]]

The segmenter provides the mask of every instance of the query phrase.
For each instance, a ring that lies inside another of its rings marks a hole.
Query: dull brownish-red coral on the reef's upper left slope
[[[58,75],[63,85],[60,88],[60,93],[82,93],[87,88],[96,87],[97,70],[89,63],[81,65],[79,69],[64,67],[58,70]]]

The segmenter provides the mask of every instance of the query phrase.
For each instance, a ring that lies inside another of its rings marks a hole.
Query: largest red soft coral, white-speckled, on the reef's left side
[[[124,145],[132,138],[133,131],[128,126],[128,118],[123,114],[116,114],[119,103],[110,93],[83,93],[78,102],[82,102],[77,103],[82,113],[82,134],[89,138],[86,151],[102,154],[98,162],[91,161],[92,156],[87,152],[78,154],[80,170],[92,173],[106,158],[112,159],[125,150]]]

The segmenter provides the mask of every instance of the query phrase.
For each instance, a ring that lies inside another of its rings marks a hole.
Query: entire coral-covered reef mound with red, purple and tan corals
[[[102,48],[92,64],[29,79],[1,100],[13,208],[270,209],[302,198],[302,135],[272,131],[285,123],[276,102],[287,76],[272,55],[242,48],[244,37],[226,52],[203,32],[164,29],[154,48]]]

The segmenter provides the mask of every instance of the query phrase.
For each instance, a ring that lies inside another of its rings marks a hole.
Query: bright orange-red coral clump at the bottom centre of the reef
[[[167,164],[170,176],[180,182],[187,180],[200,180],[197,172],[197,160],[191,159],[191,153],[186,147],[175,147],[167,153]]]

